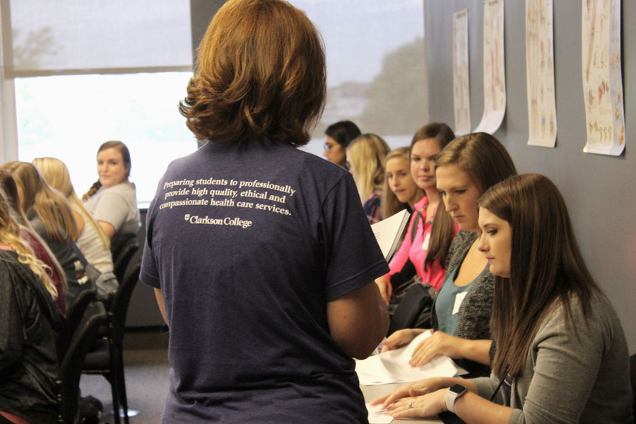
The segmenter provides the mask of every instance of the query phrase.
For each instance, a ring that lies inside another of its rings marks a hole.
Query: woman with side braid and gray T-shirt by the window
[[[130,151],[121,141],[107,141],[98,150],[97,163],[99,179],[82,200],[110,237],[112,252],[117,252],[119,243],[136,234],[141,226],[135,184],[128,180]]]

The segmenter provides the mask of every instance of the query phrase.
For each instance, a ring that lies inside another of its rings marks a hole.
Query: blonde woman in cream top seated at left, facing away
[[[71,204],[79,230],[76,242],[86,260],[102,273],[112,272],[110,239],[78,198],[71,184],[69,169],[64,162],[56,158],[36,158],[33,164],[49,185],[66,196],[66,200]]]

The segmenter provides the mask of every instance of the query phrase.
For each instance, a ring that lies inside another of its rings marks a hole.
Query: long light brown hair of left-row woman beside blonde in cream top
[[[33,208],[42,220],[49,239],[56,242],[77,240],[79,231],[71,205],[60,192],[49,187],[33,163],[8,162],[2,165],[2,169],[11,172],[22,189],[23,211],[28,214]]]

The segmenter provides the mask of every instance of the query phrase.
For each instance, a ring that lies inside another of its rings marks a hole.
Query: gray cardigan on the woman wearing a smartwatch
[[[515,408],[510,423],[633,423],[628,346],[623,328],[602,295],[591,298],[587,324],[578,298],[570,300],[573,325],[553,308],[531,343],[522,377],[495,402]],[[575,331],[576,330],[576,331]],[[489,399],[499,379],[472,380]]]

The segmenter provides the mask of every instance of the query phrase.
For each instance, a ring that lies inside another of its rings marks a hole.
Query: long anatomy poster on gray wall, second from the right
[[[553,0],[526,0],[528,144],[531,146],[554,147],[556,142],[553,37]]]

